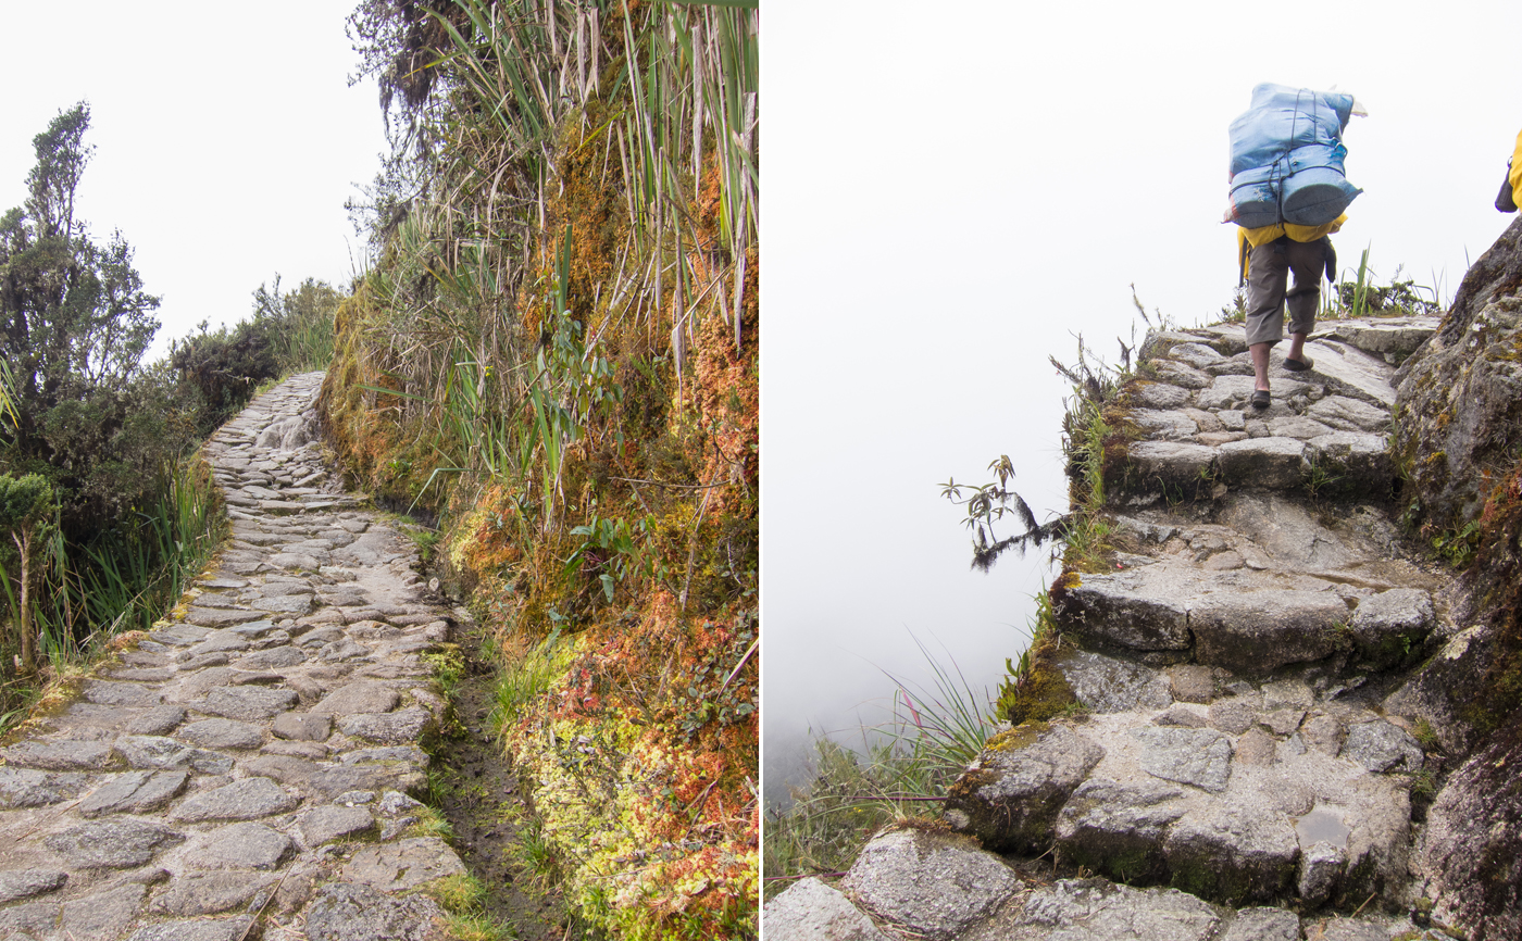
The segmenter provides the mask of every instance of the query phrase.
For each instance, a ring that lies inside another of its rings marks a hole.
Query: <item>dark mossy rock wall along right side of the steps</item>
[[[1399,441],[1412,517],[1472,552],[1467,629],[1411,684],[1473,745],[1417,853],[1440,917],[1475,941],[1522,936],[1522,219],[1464,275],[1432,342],[1402,368]]]

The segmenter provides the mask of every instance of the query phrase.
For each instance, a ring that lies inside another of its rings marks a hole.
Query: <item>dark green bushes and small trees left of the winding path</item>
[[[222,528],[196,447],[260,382],[326,362],[321,325],[336,306],[326,284],[282,293],[277,280],[256,292],[257,328],[202,330],[145,363],[158,298],[126,239],[96,240],[78,211],[88,129],[87,103],[59,112],[32,140],[26,202],[0,216],[5,725],[49,680],[180,599]]]

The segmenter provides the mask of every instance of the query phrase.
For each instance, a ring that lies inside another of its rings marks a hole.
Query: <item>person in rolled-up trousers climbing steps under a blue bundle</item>
[[[1253,407],[1266,409],[1269,350],[1285,337],[1289,307],[1292,372],[1315,363],[1304,354],[1321,299],[1321,274],[1336,278],[1329,236],[1342,228],[1362,190],[1347,181],[1342,131],[1367,114],[1352,94],[1262,84],[1253,105],[1231,122],[1231,205],[1237,261],[1247,280],[1247,342],[1253,354]],[[1286,292],[1289,272],[1295,286]]]

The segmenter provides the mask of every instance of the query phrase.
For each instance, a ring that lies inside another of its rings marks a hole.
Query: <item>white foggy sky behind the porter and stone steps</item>
[[[880,718],[910,632],[997,684],[1047,578],[966,570],[936,483],[1008,453],[1065,509],[1064,383],[1131,289],[1183,325],[1236,284],[1227,126],[1253,85],[1336,87],[1365,190],[1335,237],[1446,296],[1510,216],[1516,3],[767,0],[763,619],[769,791],[799,730]],[[868,704],[861,708],[861,704]]]

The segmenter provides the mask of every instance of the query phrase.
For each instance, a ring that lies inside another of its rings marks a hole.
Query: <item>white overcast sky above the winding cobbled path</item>
[[[353,6],[0,0],[0,211],[26,199],[32,137],[88,100],[76,216],[135,248],[163,296],[157,353],[202,319],[248,316],[275,272],[347,289],[364,252],[344,199],[385,146],[374,84],[345,82]]]

